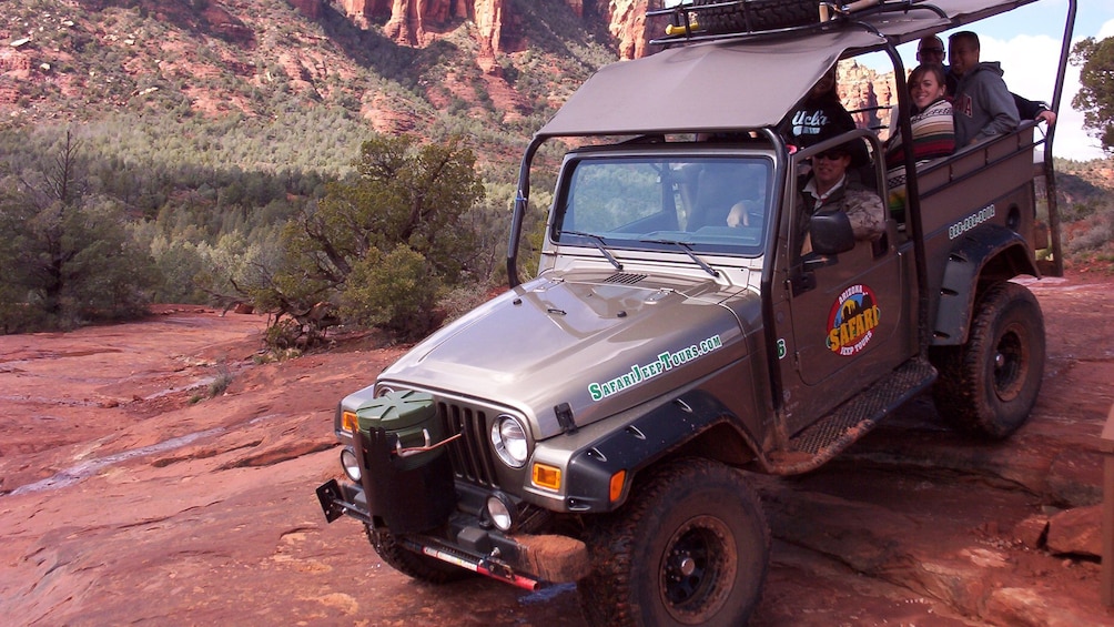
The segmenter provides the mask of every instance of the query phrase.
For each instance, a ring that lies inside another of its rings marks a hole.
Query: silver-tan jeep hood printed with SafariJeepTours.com
[[[745,355],[732,308],[758,307],[755,294],[701,278],[631,282],[537,278],[431,335],[380,381],[517,410],[544,440],[560,432],[561,403],[583,427]],[[729,308],[740,298],[753,304]]]

